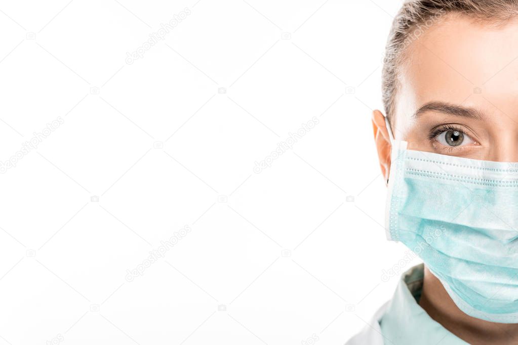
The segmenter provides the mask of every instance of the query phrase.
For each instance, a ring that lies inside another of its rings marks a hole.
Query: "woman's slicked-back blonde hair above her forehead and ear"
[[[405,59],[405,50],[419,39],[424,30],[446,14],[457,13],[474,21],[496,25],[518,14],[518,0],[407,0],[396,14],[385,48],[382,71],[382,97],[386,116],[395,113],[395,97],[399,89],[398,67]]]

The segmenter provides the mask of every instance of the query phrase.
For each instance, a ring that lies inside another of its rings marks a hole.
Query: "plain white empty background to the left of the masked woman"
[[[0,160],[63,123],[0,175],[0,344],[341,344],[370,322],[408,255],[370,123],[399,6],[1,2]]]

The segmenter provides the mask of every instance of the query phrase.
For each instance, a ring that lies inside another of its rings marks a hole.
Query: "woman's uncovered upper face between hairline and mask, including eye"
[[[441,20],[410,44],[400,82],[391,127],[409,149],[518,162],[518,20]]]

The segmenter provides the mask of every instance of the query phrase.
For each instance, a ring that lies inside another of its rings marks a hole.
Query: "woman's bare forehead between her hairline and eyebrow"
[[[518,119],[518,21],[495,26],[464,15],[440,19],[413,37],[400,84],[396,103],[407,114],[443,101],[489,113],[501,107]]]

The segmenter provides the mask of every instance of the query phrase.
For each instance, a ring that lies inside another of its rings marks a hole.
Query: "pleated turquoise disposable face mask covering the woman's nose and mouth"
[[[467,315],[518,323],[518,163],[391,141],[387,239],[421,257]]]

